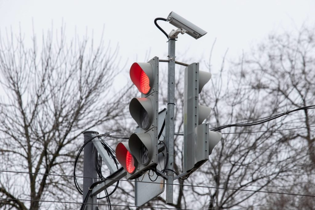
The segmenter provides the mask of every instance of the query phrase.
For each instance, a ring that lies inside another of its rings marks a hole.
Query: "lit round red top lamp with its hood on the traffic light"
[[[153,82],[153,68],[150,63],[133,63],[129,74],[131,81],[141,93],[149,93]]]

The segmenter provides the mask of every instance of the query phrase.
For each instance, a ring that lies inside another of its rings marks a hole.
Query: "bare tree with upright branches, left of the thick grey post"
[[[0,174],[6,209],[68,209],[73,206],[40,200],[80,202],[72,177],[48,174],[71,175],[83,131],[125,113],[123,95],[110,92],[117,49],[103,41],[95,47],[88,37],[69,43],[64,26],[56,37],[48,31],[37,39],[27,47],[21,33],[0,37],[0,165],[26,172]]]

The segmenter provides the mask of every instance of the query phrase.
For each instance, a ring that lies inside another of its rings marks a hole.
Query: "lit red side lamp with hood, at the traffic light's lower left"
[[[135,171],[135,167],[137,166],[137,161],[129,152],[128,143],[118,143],[115,152],[118,162],[123,166],[125,171],[133,173]]]

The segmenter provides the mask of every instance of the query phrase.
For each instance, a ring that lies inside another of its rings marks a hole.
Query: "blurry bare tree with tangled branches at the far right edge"
[[[244,69],[247,72],[245,75],[250,71],[254,75],[252,78],[246,76],[247,84],[255,93],[267,97],[267,100],[261,100],[261,103],[275,113],[315,104],[314,39],[314,28],[306,27],[302,27],[297,33],[272,35],[255,49],[251,56],[244,59]],[[313,116],[313,109],[303,110],[287,116],[278,123],[281,129],[300,128],[278,132],[279,142],[288,151],[289,156],[306,157],[300,163],[299,170],[290,176],[289,182],[278,188],[284,192],[313,195],[315,163]],[[295,164],[293,161],[292,163]],[[266,209],[313,207],[312,202],[305,202],[307,197],[303,196],[278,195],[267,196],[266,199]],[[288,200],[290,202],[286,202]]]

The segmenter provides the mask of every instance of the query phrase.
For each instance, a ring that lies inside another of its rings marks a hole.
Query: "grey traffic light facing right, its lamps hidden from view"
[[[199,63],[185,68],[184,90],[184,172],[192,173],[209,159],[222,134],[209,130],[209,124],[202,123],[211,108],[199,105],[199,94],[210,80],[211,73],[199,71]]]

